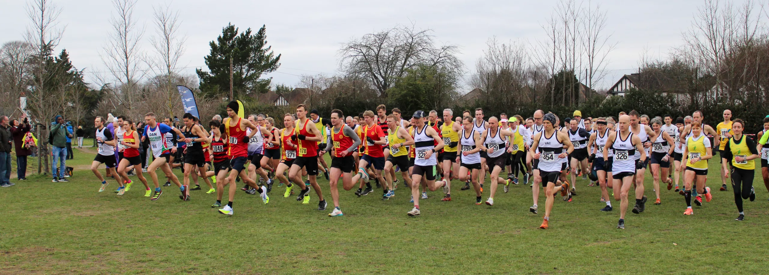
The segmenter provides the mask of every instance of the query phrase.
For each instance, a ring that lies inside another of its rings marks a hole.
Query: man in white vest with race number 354
[[[574,151],[574,146],[568,142],[568,135],[553,128],[554,125],[558,125],[556,120],[552,113],[544,115],[544,129],[541,133],[534,135],[534,143],[529,149],[531,157],[539,160],[537,167],[544,185],[544,217],[539,226],[541,229],[548,229],[555,193],[561,192],[561,196],[566,196],[569,190],[568,182],[555,186],[561,171],[566,169],[566,162],[561,159],[567,158]],[[491,119],[489,121],[491,122]],[[491,191],[494,192],[494,188]]]

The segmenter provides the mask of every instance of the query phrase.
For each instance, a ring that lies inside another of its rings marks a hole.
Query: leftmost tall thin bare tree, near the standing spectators
[[[38,158],[38,174],[42,173],[42,167],[45,167],[45,173],[48,174],[50,171],[48,145],[46,144],[47,139],[42,138],[42,136],[48,136],[50,126],[45,124],[59,110],[55,108],[56,104],[53,104],[56,100],[53,94],[55,92],[45,86],[45,83],[55,75],[48,71],[45,63],[51,57],[54,47],[58,45],[62,34],[64,34],[64,28],[59,27],[57,22],[58,15],[61,14],[62,10],[50,0],[32,0],[27,3],[26,11],[31,24],[27,28],[25,40],[32,45],[33,49],[32,76],[34,78],[32,90],[28,94],[30,101],[28,106],[31,107],[33,119],[45,126],[44,132],[41,133],[38,130],[38,136],[41,136],[40,140],[42,140],[41,146],[38,146],[38,156],[45,156]]]

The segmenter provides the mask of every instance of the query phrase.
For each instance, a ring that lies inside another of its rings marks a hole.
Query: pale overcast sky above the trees
[[[66,48],[72,63],[86,72],[105,70],[99,52],[105,45],[112,4],[106,0],[55,0],[62,8],[58,18],[66,30],[57,51]],[[438,41],[461,46],[460,58],[468,72],[481,57],[488,38],[499,41],[534,42],[544,38],[541,25],[556,1],[203,1],[161,2],[139,0],[135,16],[145,28],[142,49],[151,51],[148,38],[152,5],[170,3],[181,12],[181,33],[188,36],[180,67],[195,74],[204,67],[208,42],[231,22],[245,30],[267,25],[268,44],[281,57],[273,83],[295,86],[295,75],[338,73],[340,44],[383,28],[408,25],[431,28]],[[211,4],[214,3],[214,4]],[[664,57],[681,44],[681,32],[690,28],[694,13],[703,1],[594,1],[608,11],[607,33],[618,43],[611,52],[608,69],[638,67],[641,54]],[[21,40],[28,26],[25,1],[2,0],[0,42]],[[629,70],[628,70],[629,71]],[[88,80],[93,81],[88,74]],[[616,81],[616,80],[614,80]],[[613,82],[613,81],[609,81]],[[600,88],[600,87],[597,87]]]

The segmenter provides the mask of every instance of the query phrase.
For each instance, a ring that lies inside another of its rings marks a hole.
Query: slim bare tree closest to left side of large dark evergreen
[[[181,23],[178,11],[171,11],[171,7],[158,6],[153,8],[155,35],[150,38],[152,47],[155,48],[155,54],[158,55],[160,62],[155,64],[161,68],[161,77],[165,83],[161,88],[165,94],[165,109],[171,116],[174,115],[174,102],[178,98],[178,91],[172,80],[177,76],[177,64],[181,55],[185,53],[185,41],[187,36],[178,33]]]

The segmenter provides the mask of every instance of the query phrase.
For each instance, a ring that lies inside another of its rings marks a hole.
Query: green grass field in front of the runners
[[[619,203],[612,212],[598,211],[600,188],[579,179],[579,195],[571,203],[558,197],[551,229],[544,231],[538,229],[544,192],[540,214],[531,214],[528,185],[507,194],[500,188],[489,207],[474,205],[474,192],[454,182],[454,201],[431,192],[418,218],[406,215],[405,188],[390,201],[381,201],[380,192],[358,198],[342,190],[345,216],[330,218],[328,182],[321,179],[328,211],[315,210],[314,192],[311,203],[301,205],[275,185],[268,205],[238,191],[235,215],[226,216],[210,208],[215,195],[205,191],[181,201],[171,186],[149,201],[141,184],[117,196],[113,182],[98,193],[98,180],[85,168],[94,152],[75,152],[71,182],[29,176],[0,188],[0,273],[769,273],[769,202],[761,174],[756,201],[745,202],[745,221],[734,221],[731,189],[717,191],[717,161],[708,179],[713,201],[694,206],[694,215],[684,216],[684,198],[667,188],[662,205],[653,205],[647,175],[646,211],[628,211],[627,229],[618,230]]]

